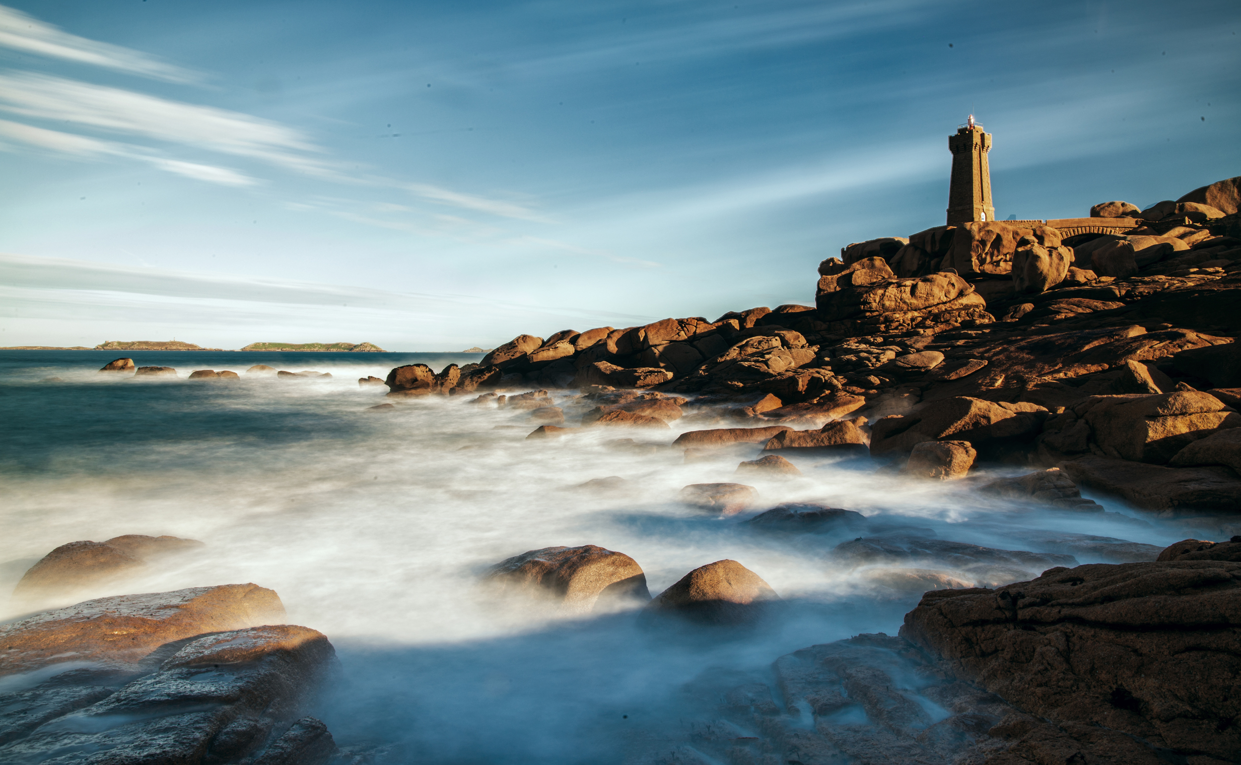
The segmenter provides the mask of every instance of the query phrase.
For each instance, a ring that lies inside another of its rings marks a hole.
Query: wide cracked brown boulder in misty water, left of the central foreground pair
[[[650,600],[638,562],[594,544],[545,547],[496,563],[486,579],[503,590],[550,598],[573,611]]]

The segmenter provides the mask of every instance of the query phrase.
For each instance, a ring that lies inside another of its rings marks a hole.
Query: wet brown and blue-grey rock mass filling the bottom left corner
[[[304,715],[338,672],[335,652],[283,616],[272,590],[223,585],[0,626],[0,759],[326,763],[331,734]]]

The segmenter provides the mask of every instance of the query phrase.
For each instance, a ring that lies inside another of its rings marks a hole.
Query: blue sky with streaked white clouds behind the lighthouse
[[[0,346],[493,347],[813,304],[841,247],[1241,175],[1241,4],[0,6]]]

